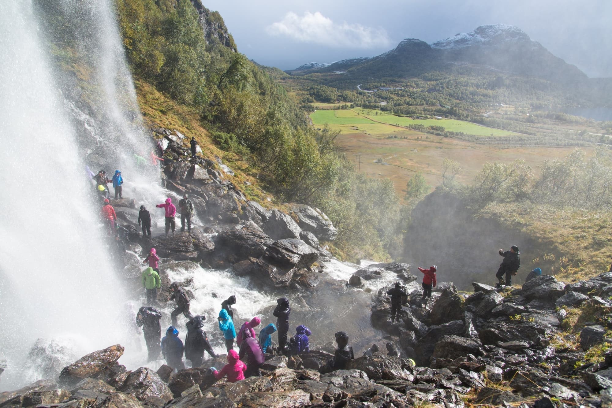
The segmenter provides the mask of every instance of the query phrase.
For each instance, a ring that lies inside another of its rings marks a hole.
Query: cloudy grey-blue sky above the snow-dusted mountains
[[[523,29],[591,77],[612,76],[610,0],[203,0],[218,10],[238,50],[259,64],[375,56],[405,38],[431,43],[483,24]]]

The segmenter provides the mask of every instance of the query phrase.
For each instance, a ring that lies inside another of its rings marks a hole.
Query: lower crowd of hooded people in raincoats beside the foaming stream
[[[156,261],[155,258],[157,258],[155,251],[151,251],[145,261],[149,261],[151,265]],[[152,283],[148,286],[155,286],[159,289],[159,275],[151,266],[147,267],[143,273],[143,283],[147,285],[145,280],[148,279],[146,276],[149,275],[152,276]],[[190,313],[189,297],[179,283],[173,282],[170,289],[172,291],[170,299],[176,302],[177,307],[171,313],[172,325],[166,329],[166,335],[163,338],[160,339],[162,313],[159,310],[153,306],[143,306],[136,314],[136,324],[143,327],[149,360],[157,360],[161,352],[166,364],[176,371],[185,368],[183,356],[186,360],[190,360],[192,367],[202,365],[204,352],[207,352],[216,360],[219,355],[215,354],[208,336],[203,330],[206,316],[200,314],[193,316]],[[149,297],[149,290],[147,288],[147,300],[154,300],[154,295]],[[260,368],[266,361],[266,355],[274,353],[294,355],[310,352],[309,336],[312,335],[312,332],[305,325],[298,325],[296,334],[289,338],[289,341],[287,340],[291,306],[289,306],[289,300],[285,297],[277,300],[277,306],[273,313],[277,317],[276,325],[272,323],[266,325],[259,331],[259,334],[255,332],[255,328],[261,324],[261,318],[258,316],[253,317],[250,321],[243,322],[236,333],[234,310],[232,308],[235,304],[236,296],[232,295],[222,302],[218,314],[218,328],[225,339],[228,364],[223,366],[220,371],[214,367],[211,368],[211,373],[217,379],[227,376],[230,382],[236,382],[246,377],[259,376],[261,375]],[[180,333],[176,319],[181,313],[188,319],[185,323],[187,335],[184,341],[179,338]],[[275,348],[272,347],[271,336],[277,330],[278,347]],[[237,352],[234,350],[234,339],[238,346]],[[345,332],[337,332],[335,333],[335,339],[338,348],[334,353],[334,358],[321,368],[321,373],[345,368],[348,361],[354,358],[353,347],[348,344],[348,335]]]

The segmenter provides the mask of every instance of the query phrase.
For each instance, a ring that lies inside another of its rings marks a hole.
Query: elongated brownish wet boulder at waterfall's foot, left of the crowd
[[[84,378],[95,376],[95,374],[117,365],[117,360],[123,355],[124,350],[124,347],[115,344],[85,355],[62,369],[59,374],[59,382],[65,385],[74,385]]]

